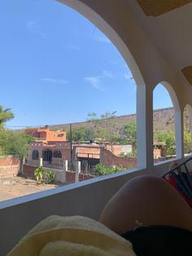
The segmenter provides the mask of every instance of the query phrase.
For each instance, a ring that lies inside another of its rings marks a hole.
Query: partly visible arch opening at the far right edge
[[[186,105],[183,111],[183,143],[184,155],[192,154],[191,129],[192,129],[192,108]]]

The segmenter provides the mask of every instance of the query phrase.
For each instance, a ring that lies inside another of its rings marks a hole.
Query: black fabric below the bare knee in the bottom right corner
[[[137,256],[192,256],[192,232],[168,226],[137,227],[122,235]]]

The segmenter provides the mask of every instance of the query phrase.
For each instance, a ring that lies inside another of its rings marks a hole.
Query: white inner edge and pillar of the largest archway
[[[128,46],[125,45],[124,41],[116,33],[114,29],[107,24],[106,20],[98,15],[93,9],[88,7],[85,3],[79,0],[57,0],[72,7],[85,18],[90,20],[95,24],[98,29],[102,30],[103,33],[110,38],[111,42],[116,46],[120,54],[124,58],[125,62],[128,64],[133,78],[137,84],[137,167],[146,167],[146,85],[142,77],[142,73],[133,58],[132,53],[129,51]]]

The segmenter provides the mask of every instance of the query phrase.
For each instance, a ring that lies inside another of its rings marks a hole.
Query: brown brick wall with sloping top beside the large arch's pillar
[[[135,168],[137,166],[137,159],[131,157],[116,157],[112,152],[102,148],[101,163],[104,166],[124,166],[124,168]]]

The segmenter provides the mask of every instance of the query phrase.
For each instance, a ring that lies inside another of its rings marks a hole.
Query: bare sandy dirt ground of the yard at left
[[[23,177],[1,178],[0,201],[58,187],[56,184],[38,184],[33,179]]]

